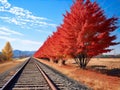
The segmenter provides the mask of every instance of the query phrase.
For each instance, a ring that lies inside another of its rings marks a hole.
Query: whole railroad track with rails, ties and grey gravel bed
[[[88,90],[30,58],[0,90]]]

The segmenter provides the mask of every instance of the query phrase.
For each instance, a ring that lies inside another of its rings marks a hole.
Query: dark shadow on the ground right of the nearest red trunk
[[[100,72],[103,74],[107,74],[110,76],[120,77],[120,68],[107,69],[106,66],[103,66],[103,65],[93,65],[93,66],[89,66],[88,69],[96,72]]]

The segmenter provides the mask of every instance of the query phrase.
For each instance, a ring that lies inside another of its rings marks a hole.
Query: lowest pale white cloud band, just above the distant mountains
[[[0,40],[9,41],[14,49],[37,50],[43,43],[33,40],[0,36]],[[0,47],[2,49],[2,47]]]

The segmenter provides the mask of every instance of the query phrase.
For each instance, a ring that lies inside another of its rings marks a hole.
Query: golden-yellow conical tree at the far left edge
[[[2,61],[10,61],[13,57],[13,50],[11,47],[10,42],[6,42],[6,45],[2,49],[2,52],[0,53],[0,62]]]

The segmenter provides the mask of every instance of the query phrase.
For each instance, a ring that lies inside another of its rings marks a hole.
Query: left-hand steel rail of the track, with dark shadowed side
[[[30,58],[25,62],[25,64],[21,68],[19,68],[15,72],[15,74],[2,86],[2,88],[0,88],[0,90],[9,90],[9,88],[12,85],[12,83],[14,82],[14,79],[16,79],[16,77],[19,75],[19,73],[24,69],[24,67],[27,65],[29,60],[30,60]]]

